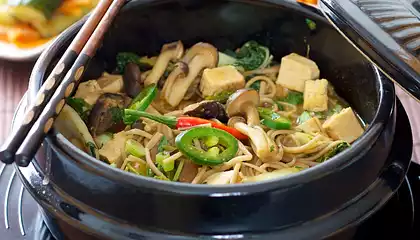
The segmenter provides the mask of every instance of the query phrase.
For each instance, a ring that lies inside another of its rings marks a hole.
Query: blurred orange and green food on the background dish
[[[42,45],[91,11],[98,0],[0,0],[0,40]]]

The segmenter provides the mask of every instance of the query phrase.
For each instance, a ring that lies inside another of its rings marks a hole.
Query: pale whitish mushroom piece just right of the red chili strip
[[[235,128],[249,137],[251,147],[261,161],[280,161],[283,158],[283,149],[279,148],[261,127],[238,122],[235,123]]]

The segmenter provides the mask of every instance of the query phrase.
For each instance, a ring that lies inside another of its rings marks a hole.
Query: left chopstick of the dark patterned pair
[[[92,14],[76,35],[69,48],[55,65],[47,81],[41,86],[36,95],[35,101],[29,106],[24,115],[23,123],[16,127],[11,135],[0,147],[0,160],[6,164],[13,163],[16,150],[19,148],[32,124],[38,119],[47,102],[50,100],[57,86],[63,80],[66,72],[74,63],[80,51],[92,35],[99,21],[105,15],[106,10],[111,5],[112,0],[102,0],[98,3]]]

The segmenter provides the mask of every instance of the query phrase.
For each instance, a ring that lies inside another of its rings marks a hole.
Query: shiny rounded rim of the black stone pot
[[[247,0],[230,1],[253,4]],[[123,11],[134,5],[144,5],[150,3],[159,4],[160,2],[167,2],[167,0],[158,1],[157,3],[153,1],[135,1],[126,4],[126,6],[123,8]],[[256,4],[275,4],[278,7],[287,5],[287,7],[289,7],[291,4],[290,1],[286,2],[289,3],[281,4],[278,1],[275,2],[272,0],[261,0]],[[296,6],[291,7],[291,10],[297,9],[298,8]],[[310,9],[299,8],[299,13],[301,15],[314,17],[325,23],[328,23],[327,20],[319,15],[319,13]],[[29,102],[31,99],[34,99],[37,91],[39,90],[41,83],[43,82],[46,69],[51,64],[52,59],[57,54],[57,51],[67,41],[74,37],[74,35],[81,28],[85,21],[86,18],[82,19],[60,34],[60,36],[39,57],[30,76],[30,94],[28,95]],[[360,158],[362,153],[370,149],[370,147],[376,142],[379,134],[382,132],[384,124],[391,116],[391,113],[395,107],[395,89],[392,82],[386,79],[386,77],[378,70],[378,68],[376,68],[371,63],[369,63],[369,66],[371,67],[374,75],[372,78],[374,78],[377,82],[376,88],[379,101],[375,116],[369,127],[366,129],[365,133],[352,144],[351,148],[337,154],[330,160],[317,166],[311,167],[305,171],[301,171],[279,179],[256,183],[242,183],[222,186],[167,182],[150,177],[137,176],[135,174],[111,167],[102,161],[98,161],[97,159],[89,156],[87,153],[71,144],[70,141],[68,141],[62,134],[55,131],[55,129],[47,136],[46,141],[54,151],[57,151],[63,156],[66,156],[69,160],[74,161],[79,165],[79,167],[85,168],[88,171],[93,171],[102,177],[119,182],[125,182],[140,188],[150,188],[164,192],[170,192],[173,194],[210,195],[212,197],[240,196],[251,193],[270,191],[279,188],[293,188],[294,186],[313,181],[317,178],[322,178],[323,176],[330,174],[336,169],[345,168],[346,166],[351,165],[353,162]]]

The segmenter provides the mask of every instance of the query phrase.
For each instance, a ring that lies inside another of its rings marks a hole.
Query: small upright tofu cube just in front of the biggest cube
[[[305,82],[303,108],[313,112],[328,110],[328,81],[325,79]]]

